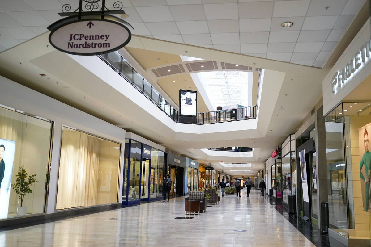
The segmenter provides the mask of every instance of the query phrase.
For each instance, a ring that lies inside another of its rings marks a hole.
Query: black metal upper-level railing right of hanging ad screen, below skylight
[[[256,119],[256,106],[197,113],[197,124],[223,123]]]

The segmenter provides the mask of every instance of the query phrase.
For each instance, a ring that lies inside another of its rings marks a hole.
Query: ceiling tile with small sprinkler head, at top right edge
[[[307,16],[338,16],[348,0],[312,0]],[[326,10],[326,7],[329,7]]]

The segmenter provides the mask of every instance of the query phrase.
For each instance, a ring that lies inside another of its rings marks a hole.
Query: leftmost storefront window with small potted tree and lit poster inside
[[[0,107],[0,218],[44,212],[52,125]],[[29,186],[17,183],[25,173]],[[20,186],[32,192],[22,197]]]

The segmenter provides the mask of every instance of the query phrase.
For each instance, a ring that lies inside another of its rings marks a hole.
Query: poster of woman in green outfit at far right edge
[[[369,135],[371,133],[371,123],[358,129],[359,141],[359,167],[361,177],[362,209],[370,212],[370,169],[371,152],[369,146]]]

